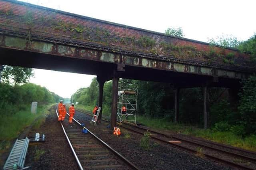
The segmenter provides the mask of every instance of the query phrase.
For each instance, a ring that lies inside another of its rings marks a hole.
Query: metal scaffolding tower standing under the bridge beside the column
[[[117,115],[118,121],[136,123],[138,100],[138,83],[135,80],[120,79],[118,82],[118,103]],[[126,113],[122,113],[122,107],[126,107]]]

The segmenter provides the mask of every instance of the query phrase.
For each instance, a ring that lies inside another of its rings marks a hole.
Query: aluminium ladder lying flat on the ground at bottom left
[[[12,150],[4,164],[4,170],[23,170],[24,168],[26,154],[28,151],[29,138],[16,140]]]

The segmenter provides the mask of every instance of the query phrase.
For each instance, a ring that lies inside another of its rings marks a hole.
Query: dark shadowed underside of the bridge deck
[[[77,59],[73,57],[63,57],[7,48],[0,48],[0,56],[0,64],[90,75],[102,75],[105,76],[105,80],[112,79],[113,72],[117,68],[117,64],[115,63]],[[150,69],[131,65],[125,65],[124,70],[125,71],[118,72],[118,76],[120,78],[160,81],[172,83],[183,88],[202,87],[206,82],[208,82],[208,86],[212,87],[240,87],[239,79],[218,77],[217,80],[213,81],[212,76]]]

